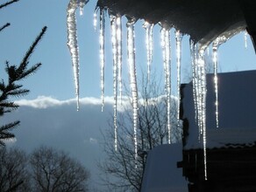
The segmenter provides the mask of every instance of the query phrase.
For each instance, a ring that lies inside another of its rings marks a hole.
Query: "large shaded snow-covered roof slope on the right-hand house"
[[[216,127],[213,75],[207,75],[207,147],[244,147],[256,141],[256,71],[218,75],[219,127]],[[198,141],[192,84],[183,90],[183,119],[188,119],[186,149],[203,147]]]

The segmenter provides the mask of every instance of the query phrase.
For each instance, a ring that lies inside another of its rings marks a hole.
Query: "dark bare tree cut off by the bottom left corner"
[[[0,191],[30,191],[29,179],[25,152],[0,147]]]

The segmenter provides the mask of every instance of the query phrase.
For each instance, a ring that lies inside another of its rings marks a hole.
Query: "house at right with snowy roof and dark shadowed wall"
[[[213,75],[207,75],[206,170],[203,143],[198,141],[192,85],[182,88],[183,176],[189,192],[256,191],[256,71],[218,75],[219,127],[216,127]],[[186,133],[186,132],[185,132]]]

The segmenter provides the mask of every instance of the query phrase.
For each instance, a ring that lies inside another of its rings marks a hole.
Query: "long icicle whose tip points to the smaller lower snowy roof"
[[[167,130],[168,143],[171,143],[171,54],[170,54],[170,31],[161,29],[161,46],[163,51],[164,71],[165,71],[165,90],[167,94]]]

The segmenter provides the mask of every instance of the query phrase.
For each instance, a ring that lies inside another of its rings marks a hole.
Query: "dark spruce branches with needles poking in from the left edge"
[[[0,9],[15,2],[18,2],[18,0],[3,3],[0,5]],[[0,27],[0,31],[3,31],[8,26],[10,26],[9,23],[4,24],[2,27]],[[28,65],[29,58],[32,56],[33,51],[39,44],[41,38],[43,38],[45,32],[46,26],[43,27],[42,31],[39,33],[39,36],[35,39],[28,51],[25,53],[25,57],[22,59],[19,65],[11,65],[9,61],[5,62],[5,72],[7,73],[8,79],[1,79],[0,81],[0,117],[3,116],[4,113],[11,113],[13,110],[18,108],[17,104],[9,100],[10,97],[20,97],[29,93],[29,90],[23,88],[22,85],[18,84],[18,82],[36,72],[41,66],[40,63],[30,67]],[[0,147],[4,146],[4,140],[14,138],[14,134],[11,134],[11,130],[17,127],[18,124],[19,120],[16,120],[6,125],[0,126]]]

